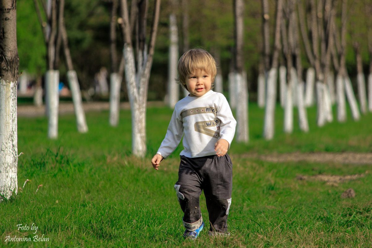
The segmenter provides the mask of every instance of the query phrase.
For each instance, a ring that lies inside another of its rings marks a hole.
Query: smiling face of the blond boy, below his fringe
[[[195,70],[192,74],[187,74],[185,85],[190,96],[203,96],[211,89],[211,74],[205,70]]]

